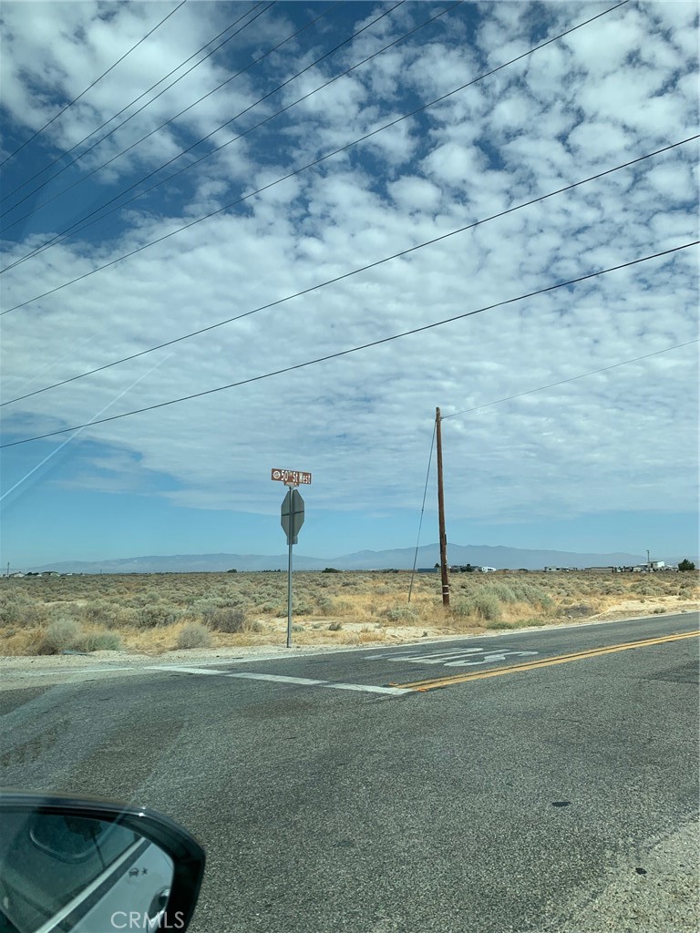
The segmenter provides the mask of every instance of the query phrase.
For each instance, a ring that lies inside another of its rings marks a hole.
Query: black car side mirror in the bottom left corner
[[[186,930],[202,846],[167,816],[97,798],[0,793],[0,933]]]

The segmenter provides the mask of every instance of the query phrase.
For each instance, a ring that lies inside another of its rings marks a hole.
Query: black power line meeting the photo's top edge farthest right
[[[402,117],[391,120],[390,122],[385,123],[384,126],[381,126],[376,130],[372,130],[371,132],[365,133],[363,136],[358,137],[357,139],[353,140],[350,143],[345,144],[344,146],[340,146],[337,149],[333,149],[332,151],[326,153],[325,155],[319,157],[318,159],[311,161],[304,166],[301,166],[301,168],[295,169],[293,172],[290,172],[284,175],[282,178],[278,178],[276,181],[271,182],[269,185],[265,185],[262,188],[259,188],[257,191],[253,191],[250,194],[245,195],[244,198],[239,198],[236,201],[233,201],[228,204],[224,204],[223,207],[219,207],[217,208],[217,210],[211,211],[209,214],[205,214],[201,217],[197,217],[194,220],[189,221],[189,223],[185,224],[183,227],[179,227],[176,230],[171,230],[170,233],[166,233],[164,236],[159,237],[157,240],[153,240],[147,244],[143,244],[142,246],[139,246],[137,249],[134,249],[129,253],[125,253],[123,256],[120,256],[119,258],[112,259],[110,262],[107,262],[102,266],[97,266],[95,269],[91,270],[91,272],[84,272],[82,275],[78,275],[77,278],[71,279],[70,281],[63,283],[63,285],[58,285],[55,288],[51,288],[48,292],[44,292],[41,295],[36,295],[35,298],[22,301],[21,304],[17,304],[12,308],[8,308],[7,311],[2,312],[2,314],[7,314],[7,313],[10,313],[11,311],[17,311],[19,308],[23,308],[26,305],[31,304],[33,301],[36,301],[42,298],[47,298],[49,295],[52,295],[54,292],[60,291],[62,288],[65,288],[68,285],[74,285],[76,282],[80,282],[82,279],[88,278],[88,276],[93,275],[95,272],[102,272],[104,269],[108,269],[110,266],[113,266],[117,262],[122,261],[122,259],[131,258],[132,256],[135,256],[137,253],[141,253],[143,252],[143,250],[148,249],[148,247],[155,246],[156,244],[160,244],[164,242],[165,240],[169,239],[171,236],[175,236],[176,233],[181,233],[183,230],[188,230],[190,227],[193,227],[198,223],[202,223],[203,220],[208,220],[210,217],[216,216],[217,214],[221,214],[223,211],[228,210],[234,205],[247,200],[247,198],[253,197],[256,194],[260,194],[262,191],[268,190],[268,188],[273,188],[275,185],[279,185],[281,182],[287,181],[288,178],[292,178],[295,175],[301,174],[301,172],[304,172],[306,169],[313,168],[315,165],[320,164],[322,161],[330,159],[332,156],[338,155],[339,153],[344,152],[345,150],[351,148],[352,146],[357,146],[357,143],[364,142],[365,140],[370,139],[372,136],[377,135],[377,133],[384,132],[390,127],[396,126],[398,123],[402,122],[403,120],[413,117],[417,113],[421,113],[422,111],[426,110],[427,107],[430,107],[433,104],[441,103],[441,101],[446,100],[448,97],[451,97],[453,94],[457,93],[458,91],[464,91],[466,88],[470,87],[473,84],[476,84],[478,81],[482,81],[486,77],[495,75],[498,71],[501,71],[503,68],[506,68],[515,62],[519,62],[521,59],[526,58],[528,55],[533,54],[539,49],[543,49],[545,48],[545,46],[551,45],[553,42],[557,41],[563,36],[569,35],[570,33],[575,32],[577,29],[581,29],[583,26],[587,25],[588,23],[598,20],[603,16],[607,16],[608,13],[611,13],[613,10],[618,9],[619,7],[625,6],[625,4],[627,3],[629,3],[629,0],[623,0],[622,3],[617,4],[615,7],[610,7],[608,10],[604,10],[602,13],[597,13],[594,17],[591,17],[588,20],[580,22],[576,26],[572,26],[571,28],[565,30],[563,33],[553,36],[553,38],[551,39],[547,39],[545,42],[542,42],[539,46],[535,46],[533,49],[528,49],[523,54],[518,55],[514,59],[511,59],[509,62],[500,64],[496,68],[493,68],[491,71],[485,72],[483,75],[472,78],[472,80],[467,81],[463,85],[460,85],[458,88],[455,88],[453,91],[448,91],[445,94],[441,94],[440,97],[435,98],[435,100],[429,101],[427,104],[421,104],[421,106],[416,107],[410,113],[404,114]],[[223,146],[220,146],[220,148],[223,148]]]

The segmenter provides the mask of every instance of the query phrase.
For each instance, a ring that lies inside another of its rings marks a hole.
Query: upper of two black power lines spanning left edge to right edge
[[[584,178],[582,181],[574,182],[571,185],[567,185],[565,188],[557,188],[554,191],[550,191],[548,194],[540,195],[538,198],[533,198],[521,204],[516,204],[513,207],[509,207],[504,211],[498,212],[497,214],[484,217],[481,220],[475,220],[473,223],[467,224],[467,226],[465,227],[459,227],[457,230],[451,230],[449,233],[442,233],[441,236],[435,237],[432,240],[427,240],[425,243],[417,244],[415,246],[410,246],[407,249],[400,250],[399,253],[394,253],[391,256],[387,256],[382,259],[377,259],[374,262],[371,262],[365,266],[360,266],[358,269],[353,269],[350,272],[343,272],[342,275],[337,275],[332,279],[327,279],[325,282],[316,283],[316,285],[310,285],[308,288],[304,288],[301,291],[294,292],[294,294],[292,295],[287,295],[284,298],[276,299],[275,301],[271,301],[268,304],[260,305],[258,308],[253,308],[250,311],[246,311],[241,314],[235,314],[234,316],[226,318],[223,321],[218,321],[216,324],[210,324],[207,327],[200,327],[198,330],[190,331],[189,334],[183,334],[180,337],[173,338],[173,340],[158,343],[156,346],[149,347],[147,350],[140,350],[138,353],[135,353],[129,356],[124,356],[121,359],[114,360],[112,363],[105,363],[104,366],[95,367],[94,369],[88,369],[86,372],[79,373],[77,376],[71,376],[68,379],[63,379],[61,382],[52,383],[51,385],[46,385],[41,389],[35,389],[33,392],[27,392],[25,395],[18,396],[16,398],[10,398],[5,402],[0,402],[0,407],[4,405],[11,405],[13,402],[21,401],[23,398],[29,398],[35,395],[39,395],[42,392],[48,392],[49,389],[55,389],[61,385],[66,385],[67,383],[75,383],[78,379],[84,379],[87,376],[94,375],[96,372],[102,372],[105,369],[111,369],[114,366],[119,366],[121,363],[127,363],[130,360],[138,358],[139,356],[145,356],[149,353],[155,352],[156,350],[162,350],[164,347],[172,346],[174,343],[179,343],[180,341],[186,341],[192,337],[198,337],[200,334],[207,333],[210,330],[217,329],[217,327],[224,327],[227,324],[232,324],[234,321],[241,320],[241,318],[249,317],[252,314],[257,314],[261,311],[267,311],[268,309],[274,308],[280,304],[284,304],[285,302],[290,301],[291,299],[301,298],[301,296],[308,295],[310,292],[313,292],[318,288],[323,288],[326,285],[334,285],[337,282],[343,281],[343,279],[347,279],[353,275],[357,275],[359,272],[367,272],[370,269],[374,269],[376,266],[381,266],[381,265],[384,265],[386,262],[391,262],[393,259],[401,258],[403,256],[408,256],[409,254],[414,253],[419,249],[423,249],[425,246],[431,246],[436,243],[441,243],[442,240],[447,240],[450,237],[456,236],[456,234],[458,233],[464,233],[466,230],[472,230],[474,227],[483,226],[483,224],[486,224],[491,220],[496,220],[498,217],[507,216],[509,214],[514,213],[515,211],[520,211],[525,207],[529,207],[532,204],[546,201],[549,198],[553,198],[554,196],[558,194],[562,194],[566,191],[570,191],[573,188],[579,188],[581,187],[581,185],[586,185],[591,181],[595,181],[598,178],[604,177],[605,175],[612,174],[613,172],[619,172],[623,168],[628,168],[630,165],[637,164],[637,162],[641,162],[646,159],[651,159],[652,156],[657,156],[660,153],[667,152],[670,149],[676,148],[677,146],[683,146],[685,143],[691,142],[693,139],[697,139],[699,136],[700,136],[700,133],[696,134],[695,136],[690,136],[688,139],[681,140],[678,143],[672,143],[670,146],[664,146],[661,149],[656,149],[653,152],[647,153],[644,156],[639,156],[637,159],[624,162],[622,165],[617,165],[615,166],[615,168],[607,169],[605,172],[599,172],[595,175],[591,175],[588,178]],[[114,260],[114,261],[119,261],[119,260]],[[88,272],[86,274],[89,275],[91,273]],[[54,289],[54,290],[57,291],[58,289]],[[50,294],[50,292],[48,294]],[[40,297],[43,298],[44,296],[40,296]],[[21,307],[21,305],[18,305],[17,307]],[[8,309],[7,312],[3,312],[3,313],[9,313],[9,311],[14,311],[14,310],[16,309],[10,308]]]

